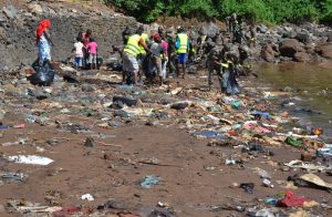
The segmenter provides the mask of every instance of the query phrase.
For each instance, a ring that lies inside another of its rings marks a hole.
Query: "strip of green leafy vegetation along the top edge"
[[[251,21],[332,21],[332,0],[104,0],[118,10],[152,22],[159,16],[222,20],[232,12]]]

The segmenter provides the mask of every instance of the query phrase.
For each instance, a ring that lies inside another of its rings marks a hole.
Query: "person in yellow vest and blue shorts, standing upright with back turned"
[[[186,74],[186,61],[187,53],[189,49],[188,35],[183,27],[177,29],[175,48],[177,52],[177,64],[176,64],[176,75],[179,76],[179,68],[183,68],[183,79],[185,79]]]

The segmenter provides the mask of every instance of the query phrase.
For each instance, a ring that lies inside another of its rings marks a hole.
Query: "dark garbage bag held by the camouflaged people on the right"
[[[236,78],[236,71],[234,69],[227,69],[222,73],[221,90],[230,95],[240,93],[240,87]]]

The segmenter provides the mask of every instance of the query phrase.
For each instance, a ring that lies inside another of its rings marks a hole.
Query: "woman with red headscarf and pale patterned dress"
[[[53,42],[49,33],[50,27],[50,20],[42,20],[37,29],[35,42],[38,45],[38,58],[40,65],[42,65],[45,60],[51,61],[51,44],[53,45]]]

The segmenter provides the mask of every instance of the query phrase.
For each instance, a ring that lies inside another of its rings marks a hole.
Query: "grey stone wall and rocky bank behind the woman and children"
[[[82,3],[83,4],[83,3]],[[79,9],[77,9],[79,8]],[[91,29],[101,56],[107,56],[112,45],[123,44],[122,31],[137,21],[115,13],[107,7],[77,7],[50,2],[27,3],[23,8],[7,6],[0,16],[0,71],[20,64],[31,64],[37,58],[35,29],[42,19],[51,20],[51,37],[55,44],[52,58],[65,61],[71,56],[73,41],[80,31]]]

